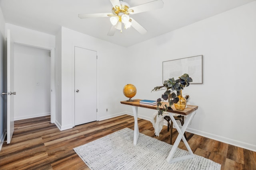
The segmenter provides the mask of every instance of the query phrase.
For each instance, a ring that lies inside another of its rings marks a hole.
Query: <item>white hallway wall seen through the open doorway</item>
[[[50,50],[14,44],[14,120],[50,115]]]

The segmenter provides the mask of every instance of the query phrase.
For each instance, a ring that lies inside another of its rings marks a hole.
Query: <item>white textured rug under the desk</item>
[[[166,158],[172,145],[140,133],[134,146],[133,133],[124,128],[74,151],[92,170],[220,170],[220,164],[198,155],[168,164]],[[186,154],[186,150],[177,149],[174,157]]]

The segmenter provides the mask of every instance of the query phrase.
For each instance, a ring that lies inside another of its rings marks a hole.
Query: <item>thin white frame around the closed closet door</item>
[[[72,44],[72,126],[75,126],[75,47],[86,49],[86,50],[91,50],[95,51],[97,55],[96,59],[96,107],[97,107],[97,112],[96,112],[96,121],[99,120],[99,113],[98,113],[98,52],[96,50],[88,49],[85,47],[85,45],[80,45],[80,44]]]

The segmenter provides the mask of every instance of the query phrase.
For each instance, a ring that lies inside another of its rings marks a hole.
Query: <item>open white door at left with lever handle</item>
[[[14,133],[14,43],[10,29],[7,30],[7,144]]]

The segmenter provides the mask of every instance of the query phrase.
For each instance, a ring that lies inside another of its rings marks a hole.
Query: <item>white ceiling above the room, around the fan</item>
[[[153,0],[125,0],[137,6]],[[55,35],[61,26],[129,47],[158,35],[204,20],[254,0],[162,0],[164,8],[132,15],[148,32],[134,28],[107,33],[109,18],[80,19],[78,14],[111,13],[109,0],[0,0],[6,23]]]

